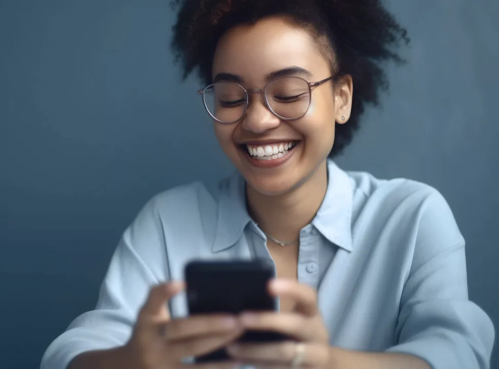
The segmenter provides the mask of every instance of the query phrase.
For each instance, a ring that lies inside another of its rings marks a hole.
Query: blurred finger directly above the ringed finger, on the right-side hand
[[[322,326],[315,320],[297,313],[243,313],[241,325],[245,330],[271,331],[283,333],[300,341],[318,341],[322,339]]]

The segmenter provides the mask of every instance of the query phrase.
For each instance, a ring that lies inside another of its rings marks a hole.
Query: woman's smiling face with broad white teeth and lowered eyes
[[[330,62],[311,37],[279,17],[231,29],[220,40],[213,60],[215,81],[240,80],[247,90],[262,89],[276,72],[283,75],[281,71],[287,71],[284,74],[288,75],[290,69],[289,76],[308,82],[332,75]],[[286,86],[292,90],[294,85]],[[256,191],[284,194],[310,178],[326,160],[333,147],[335,121],[348,120],[352,96],[350,78],[346,78],[346,83],[336,83],[334,89],[332,86],[331,80],[312,88],[310,108],[296,120],[276,117],[266,107],[263,95],[254,94],[242,119],[232,124],[213,122],[223,151]],[[269,96],[271,104],[291,111],[297,104],[307,104],[295,101],[283,105],[287,101],[275,103],[273,96]],[[223,109],[232,109],[227,110],[231,112],[239,108],[224,106]]]

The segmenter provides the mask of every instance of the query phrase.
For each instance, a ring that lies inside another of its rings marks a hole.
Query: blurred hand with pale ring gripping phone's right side
[[[269,291],[281,299],[293,300],[294,310],[242,314],[243,328],[283,333],[296,341],[237,343],[228,347],[230,355],[258,369],[330,367],[329,334],[319,313],[317,293],[308,285],[287,279],[273,280]]]

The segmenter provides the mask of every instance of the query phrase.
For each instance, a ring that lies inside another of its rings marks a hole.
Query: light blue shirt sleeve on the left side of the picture
[[[169,279],[164,233],[151,200],[124,232],[95,310],[76,318],[48,347],[40,369],[66,369],[77,355],[127,342],[151,286]]]

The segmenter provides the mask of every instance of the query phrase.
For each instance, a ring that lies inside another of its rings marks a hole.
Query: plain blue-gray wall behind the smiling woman
[[[337,161],[438,188],[470,297],[499,324],[499,2],[390,1],[412,37],[384,108]],[[231,171],[168,0],[0,0],[0,367],[36,368],[96,302],[120,234],[163,189]],[[497,351],[494,365],[499,368]]]

